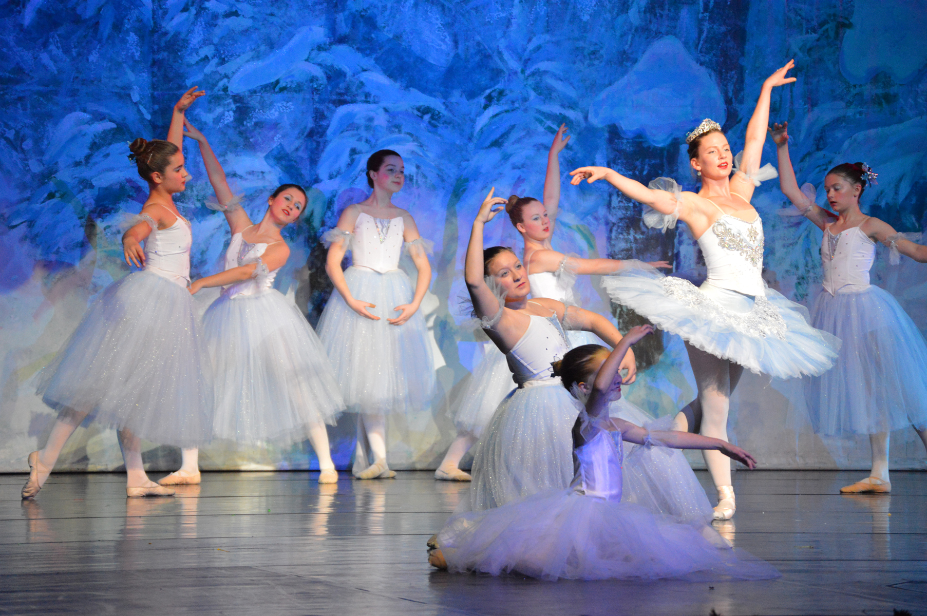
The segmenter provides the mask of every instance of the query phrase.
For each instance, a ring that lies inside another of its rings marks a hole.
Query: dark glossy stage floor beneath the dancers
[[[927,473],[837,494],[863,474],[736,473],[737,516],[717,528],[782,578],[712,584],[435,571],[425,540],[467,484],[425,471],[211,472],[172,498],[61,473],[32,502],[25,475],[0,475],[0,614],[927,614]]]

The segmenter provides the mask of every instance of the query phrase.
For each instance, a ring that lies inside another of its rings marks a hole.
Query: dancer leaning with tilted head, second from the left
[[[190,285],[190,293],[223,286],[203,318],[203,331],[215,371],[213,437],[286,445],[309,436],[319,459],[319,483],[338,480],[325,423],[344,410],[335,374],[322,343],[298,308],[273,288],[289,258],[280,232],[306,208],[306,193],[283,184],[267,199],[267,211],[253,224],[232,194],[225,171],[202,132],[184,120],[184,134],[199,144],[216,202],[225,214],[232,241],[225,270]],[[198,484],[199,452],[184,449],[180,470],[158,482]]]

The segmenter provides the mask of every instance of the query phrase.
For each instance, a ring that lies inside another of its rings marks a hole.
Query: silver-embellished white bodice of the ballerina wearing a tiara
[[[747,222],[723,214],[711,225],[698,245],[708,269],[706,283],[743,295],[766,296],[763,283],[763,221]]]

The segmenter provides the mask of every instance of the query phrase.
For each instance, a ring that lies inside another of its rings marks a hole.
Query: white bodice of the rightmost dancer
[[[847,291],[862,290],[870,285],[870,269],[875,260],[875,243],[859,227],[851,227],[834,235],[830,225],[824,230],[820,245],[820,261],[824,269],[824,290],[835,295],[847,285]]]

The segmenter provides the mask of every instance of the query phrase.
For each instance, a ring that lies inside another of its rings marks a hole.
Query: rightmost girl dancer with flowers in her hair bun
[[[811,424],[817,434],[869,434],[870,476],[840,491],[888,494],[889,433],[913,426],[927,447],[927,344],[895,297],[870,284],[870,268],[876,242],[891,248],[893,264],[900,255],[927,262],[927,246],[905,239],[890,224],[859,209],[859,199],[876,177],[865,163],[843,163],[824,176],[836,217],[816,205],[814,186],[806,183],[799,189],[795,181],[788,122],[769,131],[778,147],[782,192],[824,232],[824,288],[811,322],[843,341],[834,369],[806,380]]]

